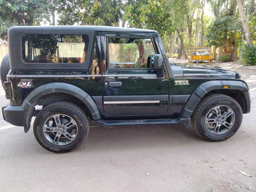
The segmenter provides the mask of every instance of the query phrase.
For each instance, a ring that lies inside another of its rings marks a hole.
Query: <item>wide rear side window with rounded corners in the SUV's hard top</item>
[[[89,37],[68,34],[22,36],[22,58],[27,63],[83,63]]]

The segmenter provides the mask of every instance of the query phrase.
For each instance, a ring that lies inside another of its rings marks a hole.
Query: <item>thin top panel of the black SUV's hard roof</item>
[[[104,31],[104,32],[156,32],[155,30],[148,29],[136,29],[125,27],[110,27],[110,26],[91,26],[91,25],[79,25],[79,26],[15,26],[9,30],[33,30],[33,31]]]

